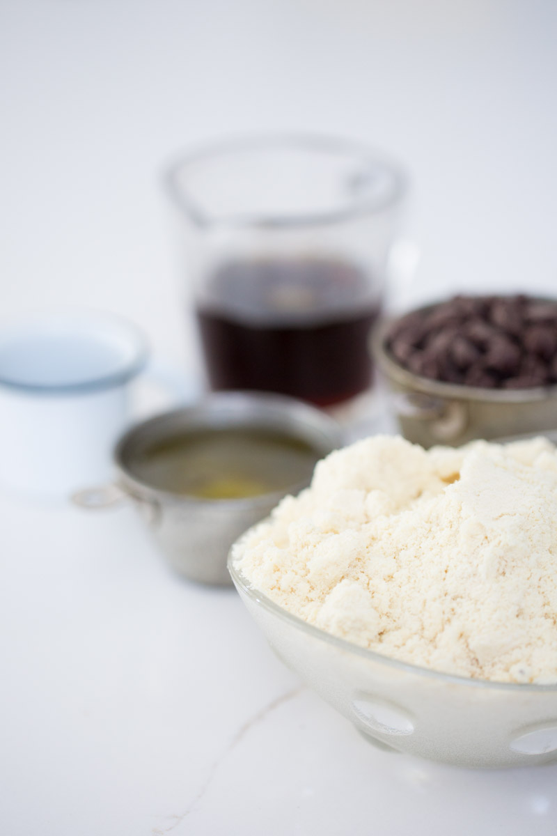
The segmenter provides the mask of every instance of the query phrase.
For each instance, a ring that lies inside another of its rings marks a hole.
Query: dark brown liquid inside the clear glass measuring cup
[[[230,262],[197,317],[215,390],[267,390],[319,406],[372,382],[377,298],[360,268],[320,258]]]

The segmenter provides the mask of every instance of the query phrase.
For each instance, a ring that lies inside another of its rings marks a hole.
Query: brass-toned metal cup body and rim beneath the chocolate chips
[[[392,321],[385,320],[376,329],[372,353],[390,390],[392,412],[408,441],[426,448],[460,446],[477,438],[492,440],[557,429],[557,385],[482,389],[414,375],[387,350]]]

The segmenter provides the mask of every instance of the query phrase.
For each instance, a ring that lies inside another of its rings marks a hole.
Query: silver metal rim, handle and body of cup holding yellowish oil
[[[180,431],[241,427],[278,431],[315,448],[316,461],[341,445],[340,427],[319,410],[281,395],[223,392],[200,404],[156,415],[132,427],[114,450],[117,477],[111,485],[73,495],[85,508],[104,508],[131,499],[170,566],[204,584],[230,585],[226,556],[246,528],[266,517],[289,493],[306,487],[298,482],[282,491],[242,499],[200,499],[161,490],[139,480],[134,459],[153,441]]]

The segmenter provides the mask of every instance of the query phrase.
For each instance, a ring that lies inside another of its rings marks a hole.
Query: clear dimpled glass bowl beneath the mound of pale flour
[[[352,645],[254,589],[233,553],[232,580],[276,655],[377,747],[460,767],[557,761],[557,685],[446,675]]]

